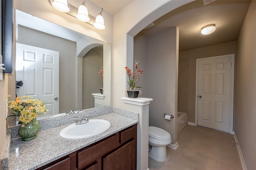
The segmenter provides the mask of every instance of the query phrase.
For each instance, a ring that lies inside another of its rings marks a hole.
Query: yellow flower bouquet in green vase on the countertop
[[[9,95],[8,108],[12,110],[11,115],[8,117],[19,117],[21,126],[18,130],[18,134],[22,137],[22,140],[35,138],[40,128],[36,118],[38,115],[48,112],[44,101],[33,99],[29,96],[16,97],[15,101],[10,101]]]

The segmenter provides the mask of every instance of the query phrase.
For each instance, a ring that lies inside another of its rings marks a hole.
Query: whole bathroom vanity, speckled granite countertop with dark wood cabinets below
[[[109,110],[109,113],[105,113]],[[103,113],[102,113],[103,112]],[[70,125],[59,125],[44,129],[49,122],[40,124],[38,136],[22,141],[20,137],[6,138],[2,159],[3,170],[113,170],[136,169],[136,141],[138,113],[112,109],[92,111],[90,119],[104,119],[111,123],[105,132],[90,138],[67,140],[60,131]],[[76,114],[84,117],[87,113]],[[74,115],[49,119],[50,123],[61,124]],[[89,119],[89,120],[90,120]],[[45,122],[46,120],[44,120]],[[41,123],[44,123],[41,122]],[[12,128],[14,133],[15,129]]]

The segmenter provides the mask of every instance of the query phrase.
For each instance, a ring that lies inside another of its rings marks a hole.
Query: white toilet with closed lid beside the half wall
[[[158,162],[167,159],[166,145],[172,142],[170,133],[158,127],[148,127],[148,144],[152,146],[148,156]]]

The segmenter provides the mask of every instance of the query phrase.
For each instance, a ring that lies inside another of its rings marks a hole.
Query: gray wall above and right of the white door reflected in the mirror
[[[74,76],[76,75],[76,43],[22,26],[18,27],[16,42],[60,52],[59,112],[77,110],[76,76]]]

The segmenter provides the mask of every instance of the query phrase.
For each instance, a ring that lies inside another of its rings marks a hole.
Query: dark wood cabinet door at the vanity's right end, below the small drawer
[[[104,170],[136,170],[136,142],[130,141],[103,158]]]

